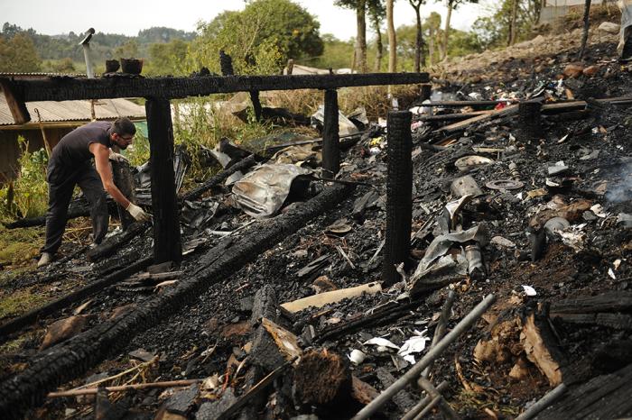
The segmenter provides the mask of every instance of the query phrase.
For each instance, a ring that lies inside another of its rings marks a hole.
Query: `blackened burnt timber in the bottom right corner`
[[[567,392],[561,400],[535,417],[539,420],[560,418],[621,418],[632,415],[632,364],[610,375],[590,379]]]

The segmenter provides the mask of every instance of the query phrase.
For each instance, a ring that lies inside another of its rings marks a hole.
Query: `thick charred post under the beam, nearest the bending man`
[[[182,260],[180,215],[173,173],[173,127],[169,100],[147,98],[149,165],[152,174],[153,259],[155,263]]]

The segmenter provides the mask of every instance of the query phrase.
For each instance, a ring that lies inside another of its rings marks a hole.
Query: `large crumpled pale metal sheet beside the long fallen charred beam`
[[[265,164],[246,174],[233,186],[236,204],[246,215],[270,217],[290,194],[294,179],[311,171],[289,164]]]

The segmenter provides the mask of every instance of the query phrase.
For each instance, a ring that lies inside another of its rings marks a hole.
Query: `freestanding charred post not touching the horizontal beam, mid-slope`
[[[412,114],[388,114],[388,172],[386,178],[386,245],[382,278],[387,285],[397,282],[395,266],[408,263],[413,221],[413,161],[411,154]]]

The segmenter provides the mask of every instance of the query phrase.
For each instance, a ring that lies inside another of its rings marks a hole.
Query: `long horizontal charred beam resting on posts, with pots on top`
[[[3,80],[0,78],[0,80]],[[4,80],[9,80],[5,78]],[[182,98],[264,90],[416,85],[428,73],[352,75],[208,76],[197,78],[49,78],[14,80],[14,95],[24,102],[107,99],[114,97]]]

